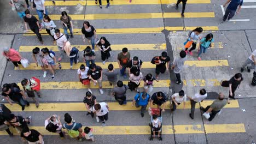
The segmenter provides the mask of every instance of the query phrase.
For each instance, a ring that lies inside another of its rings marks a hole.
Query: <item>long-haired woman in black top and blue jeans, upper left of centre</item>
[[[91,43],[92,51],[95,52],[95,41],[97,41],[96,29],[90,25],[88,21],[84,21],[82,27],[82,38],[85,43],[85,38],[88,40],[88,43]]]

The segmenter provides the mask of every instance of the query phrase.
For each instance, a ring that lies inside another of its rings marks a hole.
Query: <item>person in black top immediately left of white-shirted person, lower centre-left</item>
[[[86,116],[91,115],[91,117],[94,118],[94,112],[92,112],[92,108],[96,104],[97,104],[97,100],[95,95],[92,95],[91,92],[86,92],[84,97],[84,105],[88,111]]]

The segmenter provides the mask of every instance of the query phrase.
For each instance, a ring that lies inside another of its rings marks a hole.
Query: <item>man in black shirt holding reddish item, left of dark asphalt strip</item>
[[[152,59],[151,63],[156,65],[155,68],[155,79],[159,79],[158,75],[160,73],[164,74],[166,69],[169,69],[170,57],[167,55],[166,51],[161,53],[161,56],[156,56]]]

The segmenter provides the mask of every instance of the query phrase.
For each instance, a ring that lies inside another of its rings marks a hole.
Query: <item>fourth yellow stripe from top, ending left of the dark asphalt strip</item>
[[[72,45],[78,48],[79,51],[83,51],[88,45]],[[91,45],[89,45],[91,46]],[[40,49],[48,47],[49,50],[59,51],[56,45],[35,45],[35,46],[20,46],[19,52],[32,52],[34,47]],[[124,45],[111,45],[113,51],[121,51],[124,47],[128,50],[166,50],[166,44],[124,44]],[[95,49],[98,51],[98,49]]]

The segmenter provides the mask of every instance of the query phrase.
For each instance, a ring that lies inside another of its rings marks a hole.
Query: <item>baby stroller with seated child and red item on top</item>
[[[149,137],[149,140],[152,141],[155,137],[158,137],[159,141],[162,141],[162,110],[158,109],[158,108],[151,108],[151,110],[149,110],[149,115],[151,116],[151,121],[149,123],[149,127],[150,127],[150,132],[151,135]],[[155,131],[155,137],[153,137],[153,115],[157,116],[161,125],[158,129],[158,131]],[[160,132],[159,132],[160,131]],[[160,134],[158,134],[160,133]]]

